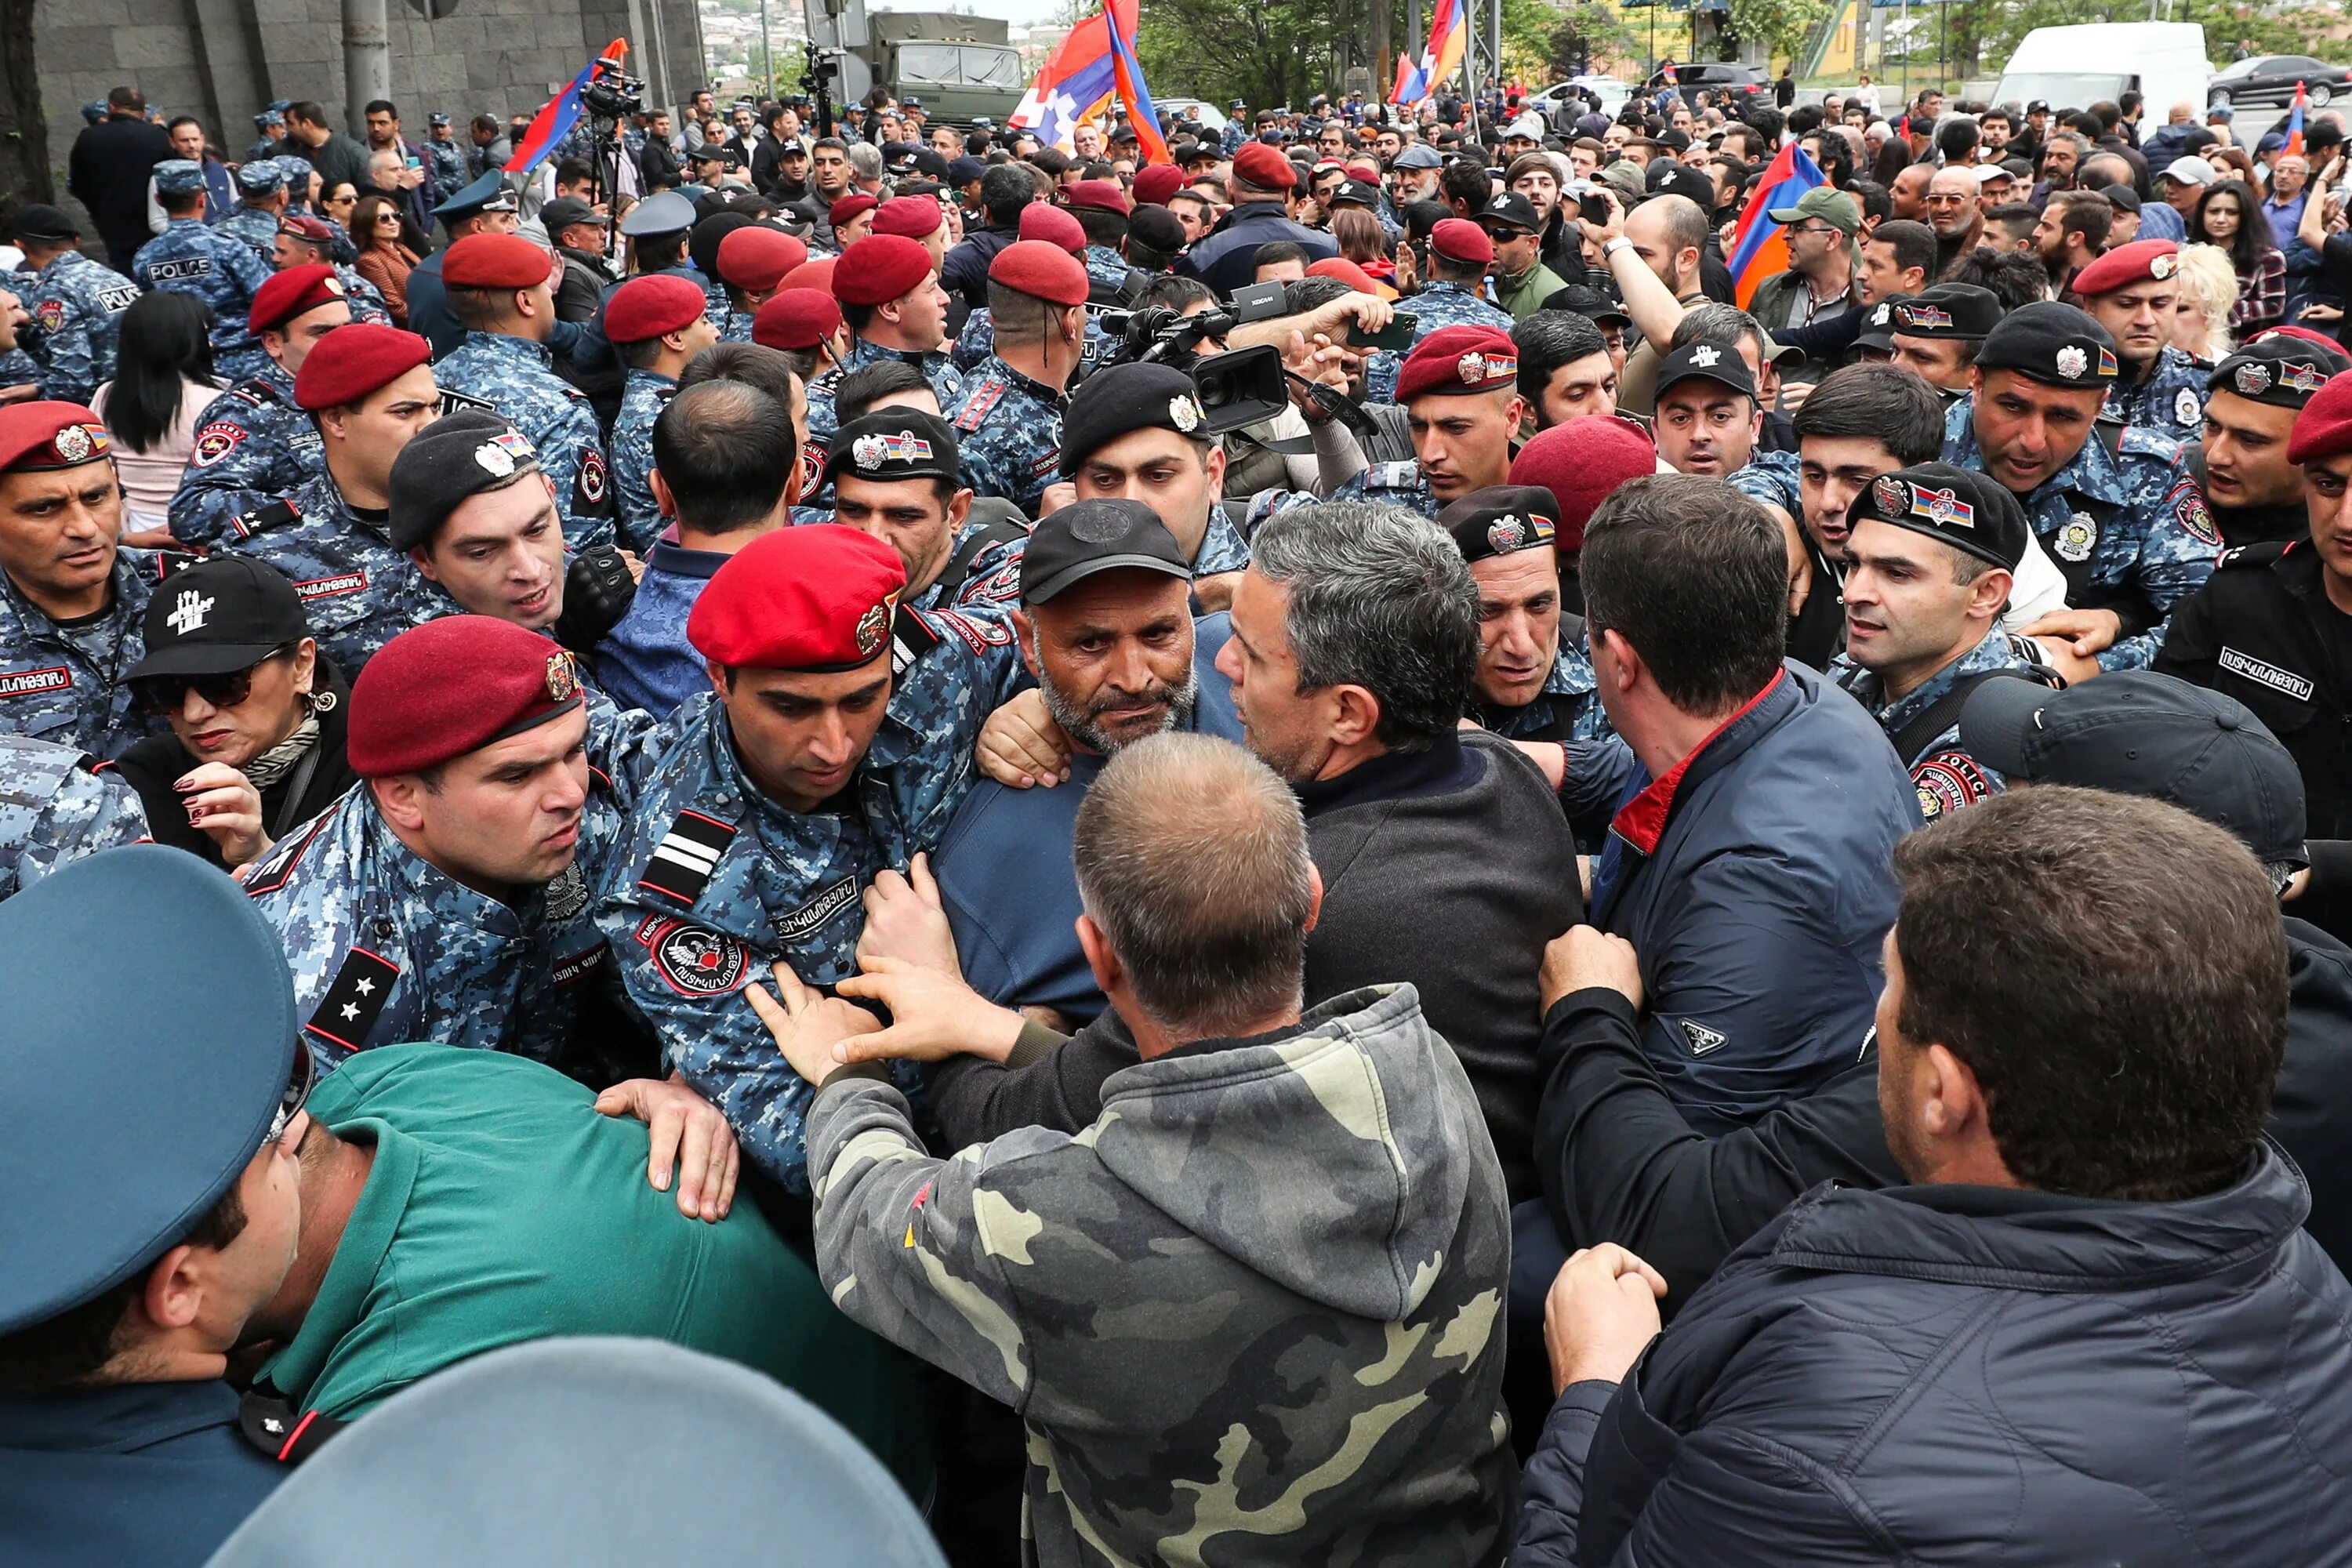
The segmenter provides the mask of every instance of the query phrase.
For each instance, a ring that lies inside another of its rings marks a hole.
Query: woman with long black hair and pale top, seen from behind
[[[212,308],[195,294],[155,289],[122,313],[115,378],[89,400],[115,437],[115,475],[129,510],[125,543],[172,543],[165,512],[188,470],[195,423],[219,393],[212,376]]]

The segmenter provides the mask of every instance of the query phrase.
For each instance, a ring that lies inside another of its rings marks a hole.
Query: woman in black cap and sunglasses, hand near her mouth
[[[181,604],[205,616],[191,625]],[[343,755],[350,686],[310,639],[294,585],[261,562],[216,555],[174,571],[127,679],[172,724],[111,764],[158,844],[235,870],[358,778]]]

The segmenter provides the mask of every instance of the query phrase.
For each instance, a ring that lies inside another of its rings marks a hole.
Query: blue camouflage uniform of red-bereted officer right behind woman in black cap
[[[325,470],[292,496],[240,512],[221,548],[292,578],[320,654],[350,679],[386,642],[454,609],[393,550],[386,517],[355,512]]]

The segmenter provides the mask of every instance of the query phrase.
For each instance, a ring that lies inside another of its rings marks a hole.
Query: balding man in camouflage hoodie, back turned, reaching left
[[[1461,1063],[1411,985],[1303,1009],[1322,879],[1298,799],[1242,750],[1115,755],[1075,865],[1138,1058],[1077,1135],[931,1159],[889,1079],[835,1063],[870,1016],[786,969],[781,1006],[746,987],[821,1079],[833,1300],[1021,1410],[1030,1561],[1496,1561],[1510,1229]]]

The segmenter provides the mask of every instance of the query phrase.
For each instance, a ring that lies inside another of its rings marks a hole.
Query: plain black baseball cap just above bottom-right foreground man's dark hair
[[[2220,691],[2154,670],[2110,670],[2065,691],[1994,677],[1959,710],[1959,743],[2009,778],[2171,802],[2234,832],[2258,860],[2310,865],[2296,759]]]

